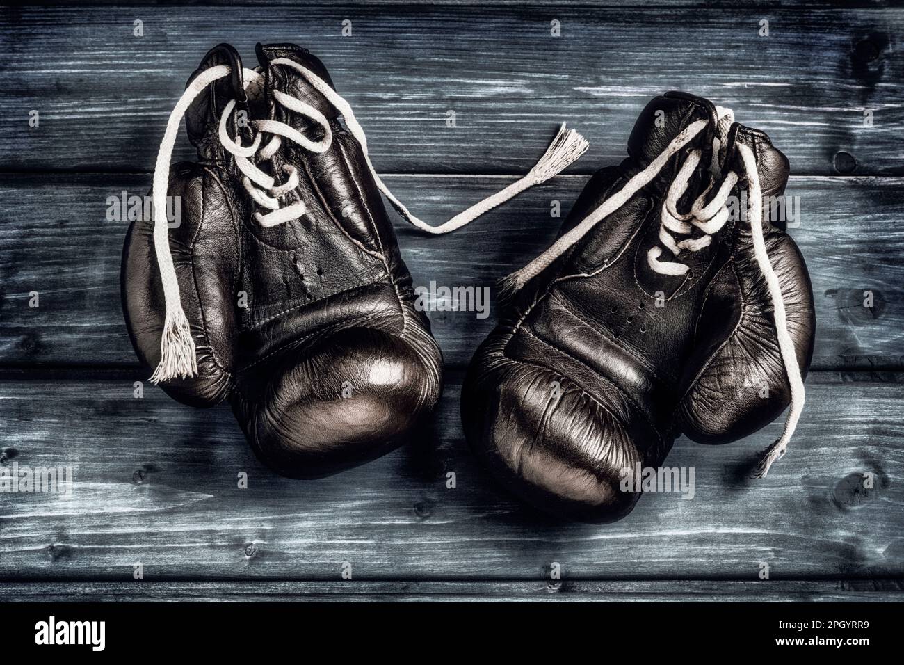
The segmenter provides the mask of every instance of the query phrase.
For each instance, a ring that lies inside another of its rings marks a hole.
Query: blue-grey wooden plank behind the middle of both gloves
[[[105,218],[107,198],[144,195],[148,176],[10,176],[0,185],[0,364],[127,365],[137,360],[119,305],[126,223]],[[399,176],[387,181],[416,214],[444,220],[501,188],[507,177]],[[396,218],[415,283],[491,287],[540,253],[586,182],[560,177],[443,237]],[[898,368],[904,230],[902,178],[794,177],[800,225],[792,229],[813,279],[817,332],[814,367]],[[864,291],[874,307],[864,309]],[[29,307],[37,291],[40,307]],[[431,311],[450,366],[465,366],[492,328],[476,312]]]

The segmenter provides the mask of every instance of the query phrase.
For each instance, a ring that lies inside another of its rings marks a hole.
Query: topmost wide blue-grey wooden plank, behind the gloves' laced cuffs
[[[482,5],[463,19],[456,7],[313,5],[256,12],[253,29],[244,6],[216,14],[0,9],[0,41],[15,46],[0,71],[0,169],[146,172],[203,52],[226,41],[254,64],[262,40],[300,43],[324,60],[387,173],[523,172],[562,120],[591,143],[572,172],[591,173],[624,154],[648,100],[677,89],[765,129],[796,174],[833,175],[846,152],[855,174],[904,175],[898,9]],[[133,37],[139,19],[145,36]],[[759,37],[764,19],[770,33]],[[33,109],[39,128],[27,124]],[[177,158],[189,151],[182,142]]]

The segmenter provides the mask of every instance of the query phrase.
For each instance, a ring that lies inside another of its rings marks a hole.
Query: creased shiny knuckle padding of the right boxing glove
[[[494,338],[495,337],[495,338]],[[591,523],[623,518],[639,494],[624,470],[658,464],[664,444],[636,405],[579,363],[501,353],[491,336],[462,387],[466,437],[513,494],[547,512]]]

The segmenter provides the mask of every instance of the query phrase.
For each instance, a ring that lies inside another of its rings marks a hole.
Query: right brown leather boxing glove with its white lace
[[[622,479],[659,467],[681,432],[734,441],[791,404],[765,475],[813,353],[803,257],[763,214],[788,176],[768,137],[673,92],[646,107],[628,154],[505,280],[462,388],[468,442],[504,486],[590,522],[624,517],[639,492]]]

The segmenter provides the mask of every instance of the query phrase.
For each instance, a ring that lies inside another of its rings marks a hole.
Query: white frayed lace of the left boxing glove
[[[549,180],[551,177],[556,176],[562,169],[569,166],[573,161],[583,155],[589,145],[574,129],[566,129],[565,123],[563,122],[559,129],[559,133],[552,140],[550,147],[547,148],[546,152],[526,176],[523,176],[512,185],[508,185],[502,191],[488,196],[483,201],[472,205],[466,211],[457,214],[446,223],[442,223],[438,226],[431,226],[420,220],[414,214],[411,214],[408,208],[392,195],[389,187],[382,182],[380,176],[373,168],[371,158],[368,155],[367,139],[364,136],[364,130],[355,119],[352,107],[349,106],[348,102],[313,71],[306,69],[297,62],[287,58],[277,58],[270,63],[284,65],[296,70],[305,77],[306,81],[315,88],[315,90],[319,91],[326,100],[339,111],[345,120],[346,127],[352,133],[353,137],[361,144],[367,166],[383,195],[389,199],[392,206],[399,211],[409,223],[427,233],[449,233],[464,226],[466,223],[474,221],[480,215],[492,210],[499,204],[503,204],[505,201],[508,201],[513,196],[523,192],[528,187],[538,185]],[[182,97],[176,102],[173,112],[170,114],[169,120],[166,123],[164,138],[160,142],[160,150],[157,153],[157,161],[154,169],[153,196],[154,248],[157,256],[157,265],[160,268],[160,278],[164,287],[166,314],[163,335],[160,339],[160,363],[156,366],[154,374],[151,375],[151,381],[154,383],[159,383],[175,377],[186,378],[198,373],[194,340],[188,320],[185,318],[185,313],[182,309],[179,282],[176,280],[173,256],[170,252],[169,239],[167,236],[166,195],[169,192],[169,166],[173,157],[173,148],[179,129],[179,123],[182,121],[184,114],[192,101],[212,82],[218,81],[224,76],[228,76],[230,72],[231,67],[228,65],[215,65],[202,71],[202,73],[193,79],[185,89]],[[257,81],[262,78],[257,71],[249,69],[242,69],[242,76],[246,87],[248,87],[251,81]],[[279,104],[287,109],[293,110],[314,120],[315,123],[324,128],[325,134],[324,138],[320,141],[314,142],[285,123],[278,122],[277,120],[258,119],[250,122],[250,125],[253,128],[256,128],[258,133],[250,146],[243,147],[240,141],[233,141],[229,137],[226,129],[231,111],[235,107],[235,101],[232,100],[223,109],[220,120],[220,140],[222,146],[227,152],[235,157],[236,165],[242,173],[242,186],[255,203],[270,211],[267,214],[256,213],[254,215],[255,220],[263,226],[275,226],[297,219],[301,215],[306,214],[306,206],[303,201],[296,201],[292,204],[288,204],[286,207],[281,207],[279,204],[279,197],[294,191],[298,185],[297,171],[293,166],[283,166],[287,180],[285,183],[277,185],[273,176],[269,176],[267,173],[260,170],[256,164],[267,161],[270,157],[273,157],[281,146],[283,138],[287,138],[288,140],[297,143],[299,146],[305,147],[315,153],[324,152],[329,148],[333,139],[329,122],[320,111],[279,90],[273,90],[273,96]],[[268,143],[264,147],[260,147],[262,140],[261,136],[263,133],[271,134],[272,138],[268,140]],[[256,162],[252,162],[250,157],[254,157]]]

